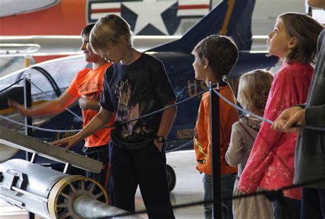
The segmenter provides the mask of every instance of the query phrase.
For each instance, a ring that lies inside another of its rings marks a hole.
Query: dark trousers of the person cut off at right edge
[[[300,219],[325,218],[325,190],[302,188]]]

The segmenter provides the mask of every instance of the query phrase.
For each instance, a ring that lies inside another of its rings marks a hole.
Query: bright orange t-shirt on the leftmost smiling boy
[[[106,68],[108,68],[111,64],[104,64],[100,66],[96,70],[92,68],[84,68],[77,73],[77,76],[71,82],[67,93],[71,96],[87,96],[89,99],[93,101],[100,101],[101,92],[103,91],[103,82],[104,82],[104,74]],[[84,118],[84,127],[96,116],[98,112],[95,110],[82,110],[82,117]],[[114,116],[110,119],[110,122],[106,124],[112,125],[115,121]],[[88,136],[85,139],[85,145],[87,147],[93,146],[102,146],[108,144],[110,142],[110,130],[112,128],[100,129],[93,135]]]

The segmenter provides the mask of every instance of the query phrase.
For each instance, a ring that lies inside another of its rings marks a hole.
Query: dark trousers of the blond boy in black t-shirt
[[[110,143],[110,168],[114,205],[134,212],[134,196],[140,187],[149,218],[173,219],[166,172],[165,149],[154,142],[142,149],[124,150]]]

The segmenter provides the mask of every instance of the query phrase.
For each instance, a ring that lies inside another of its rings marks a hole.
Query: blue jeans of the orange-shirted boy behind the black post
[[[230,175],[221,175],[221,198],[232,197],[234,190],[234,181],[236,180],[237,172]],[[204,174],[204,201],[213,199],[212,194],[212,177]],[[212,204],[204,204],[204,218],[212,219]],[[221,203],[221,214],[223,219],[232,219],[232,200],[224,201]]]

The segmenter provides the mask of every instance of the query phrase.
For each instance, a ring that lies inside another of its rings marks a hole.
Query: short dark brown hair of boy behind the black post
[[[218,81],[225,79],[238,59],[236,44],[228,36],[211,35],[201,40],[193,49],[202,64],[208,60],[208,66]]]

